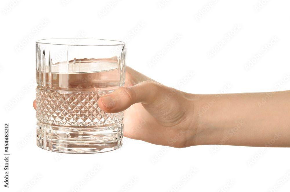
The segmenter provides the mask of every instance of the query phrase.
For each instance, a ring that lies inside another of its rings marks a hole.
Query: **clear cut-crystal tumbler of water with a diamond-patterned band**
[[[105,113],[97,102],[124,86],[125,65],[126,45],[121,41],[37,41],[37,146],[61,153],[121,147],[123,112]]]

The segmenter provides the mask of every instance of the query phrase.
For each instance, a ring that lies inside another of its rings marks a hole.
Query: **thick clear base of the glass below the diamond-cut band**
[[[36,144],[59,153],[101,153],[123,144],[123,123],[107,127],[57,126],[36,123]]]

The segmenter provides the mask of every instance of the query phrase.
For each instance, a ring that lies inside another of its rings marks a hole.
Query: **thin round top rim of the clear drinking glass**
[[[52,43],[50,41],[57,41],[57,40],[75,40],[75,39],[80,39],[80,40],[91,40],[91,41],[105,41],[105,42],[115,42],[115,43],[96,43],[96,44],[91,44],[91,45],[86,45],[86,44],[69,44],[69,43]],[[47,42],[46,42],[47,41]],[[35,43],[41,43],[41,44],[50,44],[50,45],[68,45],[68,46],[118,46],[118,45],[126,45],[125,42],[123,41],[117,41],[117,40],[109,40],[109,39],[88,39],[88,38],[52,38],[52,39],[40,39],[35,41]]]

